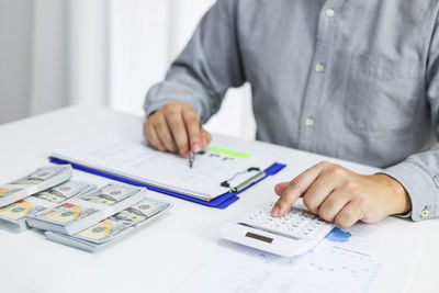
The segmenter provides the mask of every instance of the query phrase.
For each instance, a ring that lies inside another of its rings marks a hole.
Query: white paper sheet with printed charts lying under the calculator
[[[370,225],[349,233],[291,259],[227,244],[176,292],[403,292],[424,241]]]

